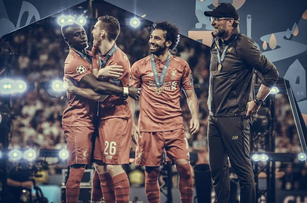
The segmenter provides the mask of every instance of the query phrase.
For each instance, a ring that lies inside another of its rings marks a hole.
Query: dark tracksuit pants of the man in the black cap
[[[230,202],[228,157],[239,178],[240,202],[256,203],[254,173],[249,157],[251,118],[213,117],[208,121],[209,165],[216,202]]]

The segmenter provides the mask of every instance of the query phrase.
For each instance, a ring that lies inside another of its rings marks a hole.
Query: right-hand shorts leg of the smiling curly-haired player
[[[167,161],[190,160],[189,144],[184,129],[166,131],[163,134]]]

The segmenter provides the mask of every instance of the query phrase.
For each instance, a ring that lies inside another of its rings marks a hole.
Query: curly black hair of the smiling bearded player
[[[168,21],[157,21],[154,24],[152,24],[151,32],[153,30],[160,29],[163,31],[166,31],[166,40],[171,41],[171,46],[169,47],[169,50],[174,50],[178,46],[179,40],[180,40],[180,34],[179,29],[177,26],[171,24]]]

